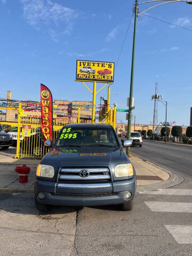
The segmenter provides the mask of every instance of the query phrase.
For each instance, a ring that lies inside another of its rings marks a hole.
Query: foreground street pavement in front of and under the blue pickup
[[[131,212],[52,207],[43,215],[32,194],[0,194],[1,254],[190,256],[192,190],[170,191],[137,193]]]

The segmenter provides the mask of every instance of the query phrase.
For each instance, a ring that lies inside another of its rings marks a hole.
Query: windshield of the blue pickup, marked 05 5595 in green
[[[63,127],[57,147],[118,147],[110,127]]]

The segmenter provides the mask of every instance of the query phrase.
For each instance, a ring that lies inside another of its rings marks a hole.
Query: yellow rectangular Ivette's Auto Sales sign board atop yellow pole
[[[114,62],[77,60],[76,80],[114,82]]]

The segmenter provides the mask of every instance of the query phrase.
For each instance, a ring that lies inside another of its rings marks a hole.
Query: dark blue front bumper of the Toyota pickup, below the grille
[[[105,188],[100,191],[87,190],[86,193],[55,193],[55,183],[43,180],[35,180],[35,196],[37,201],[42,204],[51,205],[70,205],[70,206],[93,206],[93,205],[109,205],[122,204],[131,201],[135,195],[136,180],[135,177],[130,180],[122,180],[113,182],[113,192],[107,192]],[[129,199],[124,198],[126,192],[131,193]],[[44,194],[44,199],[38,198],[38,193]]]

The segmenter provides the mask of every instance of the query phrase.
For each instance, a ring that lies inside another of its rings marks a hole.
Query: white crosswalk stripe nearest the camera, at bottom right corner
[[[179,244],[192,244],[192,226],[165,225]]]

